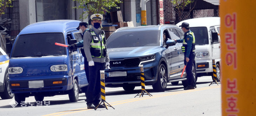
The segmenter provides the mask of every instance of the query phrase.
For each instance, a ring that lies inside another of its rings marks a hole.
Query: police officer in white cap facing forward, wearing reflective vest
[[[89,84],[86,93],[86,104],[88,109],[94,109],[100,102],[100,70],[109,68],[109,57],[107,53],[106,37],[104,31],[100,30],[100,14],[91,17],[92,28],[83,35],[83,48],[89,64]],[[100,105],[98,108],[105,108]]]

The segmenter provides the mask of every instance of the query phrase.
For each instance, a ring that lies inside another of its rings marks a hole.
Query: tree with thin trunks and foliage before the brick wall
[[[178,14],[178,21],[180,22],[181,16],[183,14],[183,11],[185,9],[185,7],[189,6],[189,13],[195,8],[196,6],[196,1],[197,0],[171,0],[171,3],[173,3],[173,5],[175,6],[174,11]],[[195,2],[193,8],[191,8],[191,3]],[[188,17],[189,15],[187,15],[186,17]],[[185,17],[185,18],[186,18]]]

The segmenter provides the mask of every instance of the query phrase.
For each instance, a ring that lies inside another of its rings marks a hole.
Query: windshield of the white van
[[[209,44],[208,32],[206,27],[190,27],[190,30],[195,35],[196,45]]]

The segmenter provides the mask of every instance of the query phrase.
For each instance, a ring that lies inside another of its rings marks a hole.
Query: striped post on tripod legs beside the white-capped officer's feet
[[[103,105],[106,107],[106,109],[108,109],[107,106],[112,107],[111,105],[109,105],[108,102],[106,102],[106,95],[105,95],[105,71],[104,70],[100,71],[100,90],[101,90],[101,102],[99,103],[99,105],[94,110],[96,110],[101,105],[101,103],[103,103]],[[108,105],[106,105],[105,102]],[[114,107],[112,107],[112,108],[115,109]]]

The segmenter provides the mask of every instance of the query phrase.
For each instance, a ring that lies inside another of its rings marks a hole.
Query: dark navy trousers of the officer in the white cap
[[[86,92],[87,105],[93,103],[98,105],[101,98],[100,93],[100,70],[104,70],[104,63],[94,62],[94,66],[89,66],[89,84]]]

